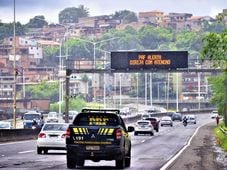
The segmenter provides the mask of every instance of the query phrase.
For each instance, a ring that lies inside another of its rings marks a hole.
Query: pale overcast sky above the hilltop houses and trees
[[[84,5],[90,16],[110,15],[115,11],[130,10],[147,12],[152,10],[191,13],[194,16],[215,17],[227,8],[226,0],[15,0],[16,21],[22,24],[29,19],[44,15],[48,22],[58,22],[58,14],[65,8]],[[13,0],[0,0],[0,20],[13,22]]]

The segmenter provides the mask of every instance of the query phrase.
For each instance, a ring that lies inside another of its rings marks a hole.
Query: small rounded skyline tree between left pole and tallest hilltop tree
[[[43,28],[45,25],[48,25],[48,23],[45,21],[45,17],[43,15],[35,16],[27,23],[27,27],[29,28]]]

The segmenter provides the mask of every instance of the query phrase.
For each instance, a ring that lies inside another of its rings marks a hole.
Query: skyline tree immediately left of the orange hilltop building
[[[122,23],[124,23],[124,24],[138,21],[138,18],[136,16],[135,12],[132,12],[129,10],[117,11],[117,12],[115,12],[113,18],[121,20]]]

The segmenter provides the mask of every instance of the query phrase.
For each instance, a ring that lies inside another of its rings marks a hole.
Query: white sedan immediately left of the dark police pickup
[[[68,126],[68,123],[45,123],[38,134],[37,154],[47,154],[48,150],[65,150]]]

